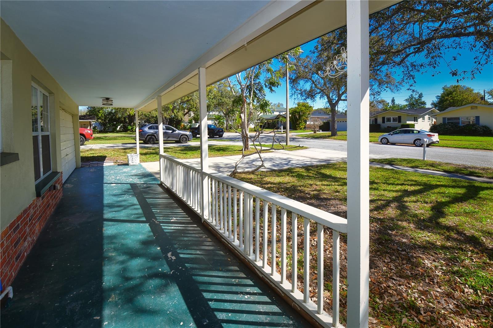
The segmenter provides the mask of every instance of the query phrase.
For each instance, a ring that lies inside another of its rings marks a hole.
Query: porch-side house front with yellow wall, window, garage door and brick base
[[[3,19],[0,33],[0,278],[8,286],[80,167],[79,108]]]

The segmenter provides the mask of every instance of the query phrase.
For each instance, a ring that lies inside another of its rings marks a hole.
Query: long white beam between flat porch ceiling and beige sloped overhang
[[[226,57],[230,53],[234,52],[242,45],[248,44],[250,40],[253,40],[262,33],[273,28],[283,20],[294,15],[296,12],[309,6],[315,2],[314,0],[298,0],[298,1],[283,1],[273,0],[269,2],[264,8],[260,9],[257,13],[252,15],[245,23],[238,27],[235,31],[227,35],[224,39],[219,41],[209,51],[200,56],[197,60],[192,62],[184,70],[178,73],[169,82],[165,83],[161,88],[156,90],[147,98],[143,99],[140,103],[134,106],[135,109],[140,109],[150,102],[154,101],[157,96],[163,95],[175,88],[177,85],[190,79],[197,74],[199,67],[208,67],[216,63],[220,59]]]

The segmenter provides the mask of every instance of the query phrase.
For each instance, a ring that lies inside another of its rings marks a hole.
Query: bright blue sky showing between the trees
[[[307,54],[310,50],[313,49],[315,43],[317,40],[310,41],[308,43],[305,43],[302,45],[302,49],[304,53],[302,54],[305,55]],[[457,55],[457,52],[454,52],[453,55]],[[452,57],[452,53],[445,53],[444,57],[447,60],[450,60]],[[474,60],[474,53],[468,51],[467,49],[462,50],[460,53],[460,57],[458,57],[458,60],[454,62],[453,66],[454,67],[472,67],[472,62]],[[277,63],[276,63],[277,64]],[[449,69],[446,66],[445,61],[441,63],[441,66],[437,69],[441,73],[435,76],[431,76],[431,72],[423,72],[422,74],[417,73],[416,74],[416,90],[419,92],[423,93],[423,99],[426,101],[426,105],[430,106],[431,101],[435,100],[435,97],[441,93],[442,87],[444,85],[451,85],[451,84],[457,84],[456,78],[451,76],[449,74]],[[475,89],[476,91],[483,92],[483,89],[492,89],[493,88],[493,65],[490,64],[488,66],[485,66],[483,68],[483,71],[481,74],[477,74],[476,78],[471,80],[471,79],[466,79],[464,81],[459,82],[459,84],[466,85],[468,87],[471,87]],[[398,103],[405,103],[404,99],[409,97],[411,94],[410,91],[406,90],[407,86],[403,86],[400,90],[399,93],[392,93],[390,91],[384,91],[381,95],[381,98],[384,98],[387,101],[390,101],[392,97],[395,97],[395,101]],[[283,104],[286,103],[286,85],[285,85],[285,80],[282,84],[281,87],[276,89],[276,93],[271,94],[269,93],[268,90],[267,92],[267,99],[270,101],[277,103],[281,102]],[[290,96],[289,97],[289,107],[292,107],[296,104],[296,102],[299,100],[296,100],[294,97]],[[319,100],[316,103],[312,103],[312,105],[315,108],[319,107],[325,107],[326,103],[323,100]],[[339,109],[344,110],[346,108],[346,102],[341,102],[339,105]]]

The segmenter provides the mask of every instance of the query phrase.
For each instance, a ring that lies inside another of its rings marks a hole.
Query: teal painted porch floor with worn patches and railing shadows
[[[141,165],[78,168],[4,327],[308,327]]]

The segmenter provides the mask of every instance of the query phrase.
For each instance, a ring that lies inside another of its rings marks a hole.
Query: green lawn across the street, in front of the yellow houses
[[[340,131],[338,135],[330,136],[330,132],[300,135],[303,138],[347,140],[348,132]],[[378,137],[384,132],[370,132],[370,142],[378,142]],[[493,136],[439,135],[440,143],[432,147],[453,147],[466,149],[493,150]]]

